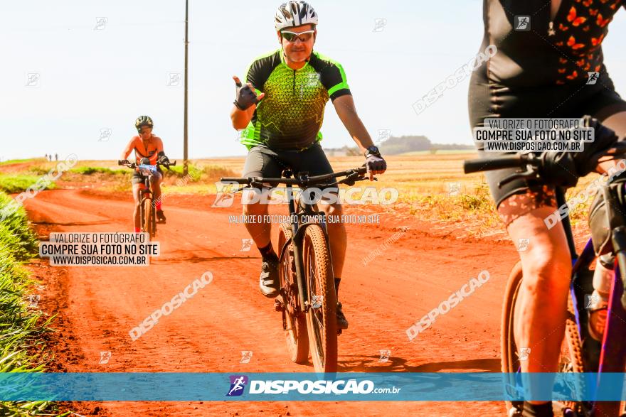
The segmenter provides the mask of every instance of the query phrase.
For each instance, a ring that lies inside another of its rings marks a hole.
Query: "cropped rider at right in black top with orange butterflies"
[[[603,63],[602,42],[622,0],[484,0],[484,38],[480,50],[497,53],[470,80],[472,128],[487,117],[580,118],[590,115],[618,136],[626,133],[626,102]],[[526,30],[515,30],[529,16]],[[518,25],[519,26],[519,25]],[[481,145],[479,145],[481,146]],[[479,156],[494,157],[479,147]],[[599,172],[612,163],[600,163]],[[563,339],[571,259],[561,223],[547,229],[543,219],[556,210],[555,190],[532,180],[498,188],[514,170],[485,175],[497,209],[520,251],[524,281],[516,344],[532,347],[523,372],[557,372]],[[592,315],[593,323],[593,315]],[[601,326],[600,326],[601,327]],[[524,403],[524,416],[552,416],[551,404]]]

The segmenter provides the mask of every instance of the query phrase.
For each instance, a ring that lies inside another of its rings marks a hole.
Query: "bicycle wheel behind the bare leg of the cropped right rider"
[[[519,348],[516,345],[514,337],[514,325],[516,320],[515,305],[519,300],[519,288],[521,287],[521,281],[521,262],[518,262],[513,267],[511,274],[509,275],[509,280],[506,283],[500,335],[502,372],[509,375],[509,379],[506,381],[506,389],[510,389],[513,392],[515,391],[514,387],[517,384],[514,374],[521,371]],[[578,325],[576,325],[571,293],[568,296],[566,330],[565,337],[561,345],[558,372],[585,372],[583,367],[580,335],[578,334]],[[573,387],[573,390],[580,392],[582,387]],[[523,405],[522,401],[506,401],[506,411],[509,413],[509,416],[521,416],[521,408]],[[583,412],[583,403],[563,401],[553,404],[553,408],[557,408],[559,410],[562,410],[563,408],[571,408],[576,413],[581,413]]]

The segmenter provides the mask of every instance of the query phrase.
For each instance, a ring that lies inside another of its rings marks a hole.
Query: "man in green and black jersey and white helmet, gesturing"
[[[333,172],[319,144],[322,139],[319,129],[328,99],[332,100],[339,119],[364,152],[370,178],[384,173],[386,162],[356,114],[343,68],[336,61],[313,51],[317,13],[305,1],[288,1],[276,12],[275,28],[280,48],[250,64],[245,84],[233,77],[237,91],[230,118],[235,129],[245,129],[241,142],[248,148],[243,176],[276,178],[287,166],[295,173],[306,171],[309,175]],[[337,192],[336,183],[331,190]],[[341,216],[341,203],[336,200],[333,204],[320,201],[320,210],[327,215]],[[267,204],[245,204],[243,212],[265,220]],[[278,295],[279,283],[278,257],[270,241],[271,224],[247,222],[245,227],[263,260],[261,293],[273,298]],[[335,288],[339,291],[346,255],[346,229],[341,223],[329,222],[328,231]],[[341,303],[337,304],[337,325],[341,329],[348,328]]]

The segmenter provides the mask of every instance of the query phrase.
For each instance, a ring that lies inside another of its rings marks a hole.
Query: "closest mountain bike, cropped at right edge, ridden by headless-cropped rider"
[[[623,150],[622,150],[623,152]],[[524,172],[517,172],[501,180],[499,187],[517,178],[541,179],[544,170],[543,159],[533,153],[518,154],[499,158],[483,158],[465,161],[465,173],[475,173],[485,170],[504,168],[526,168]],[[543,175],[543,178],[549,178]],[[624,183],[604,184],[598,192],[604,193],[605,210],[608,218],[617,218],[611,215],[619,210],[620,203],[616,193],[617,188],[624,188]],[[556,188],[557,207],[566,205],[565,190]],[[623,210],[623,209],[622,209]],[[626,366],[626,224],[610,222],[607,225],[606,236],[612,242],[612,251],[616,255],[615,269],[612,276],[611,290],[608,300],[608,315],[604,329],[603,341],[598,342],[590,337],[588,332],[588,314],[585,310],[585,296],[593,292],[593,268],[595,267],[595,251],[592,239],[589,239],[583,251],[576,253],[573,233],[568,216],[561,217],[565,229],[568,250],[573,262],[571,286],[568,295],[567,319],[565,335],[561,346],[561,357],[558,372],[588,372],[593,377],[594,386],[599,386],[603,374],[625,372]],[[592,229],[593,230],[593,229]],[[592,232],[593,234],[593,232]],[[521,372],[521,353],[514,340],[515,305],[519,296],[522,281],[521,262],[518,262],[506,284],[504,305],[502,309],[500,347],[502,351],[502,372],[506,379],[506,386],[516,386]],[[588,381],[588,379],[584,379]],[[584,384],[584,382],[583,382]],[[616,387],[620,389],[621,386]],[[579,384],[578,389],[584,391]],[[506,401],[509,416],[521,416],[522,401]],[[620,416],[623,404],[620,401],[559,401],[553,403],[562,416]],[[555,416],[559,414],[555,413]]]

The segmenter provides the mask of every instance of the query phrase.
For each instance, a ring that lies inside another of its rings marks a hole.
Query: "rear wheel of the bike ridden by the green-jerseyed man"
[[[285,330],[285,341],[290,358],[297,364],[305,364],[309,359],[309,337],[307,336],[307,319],[304,311],[299,308],[298,284],[294,263],[293,244],[290,224],[282,223],[278,229],[278,250],[280,250],[280,297],[282,298],[282,328]]]

